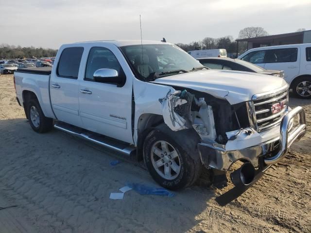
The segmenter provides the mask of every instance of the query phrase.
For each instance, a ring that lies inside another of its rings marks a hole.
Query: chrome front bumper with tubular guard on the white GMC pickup
[[[291,120],[298,116],[299,124],[291,128]],[[264,159],[266,165],[278,163],[287,154],[294,141],[299,140],[306,133],[306,119],[302,107],[296,107],[288,112],[280,124],[280,136],[264,143],[241,150],[225,150],[225,146],[218,144],[199,143],[200,159],[206,167],[227,171],[237,160],[246,160],[254,167],[259,166],[259,158],[274,154]],[[276,151],[278,148],[278,151]]]

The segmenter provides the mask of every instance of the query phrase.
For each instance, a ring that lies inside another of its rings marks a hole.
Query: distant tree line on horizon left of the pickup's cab
[[[8,44],[0,45],[0,59],[15,59],[15,58],[32,58],[32,57],[54,57],[57,50],[43,49],[31,47],[21,47]]]

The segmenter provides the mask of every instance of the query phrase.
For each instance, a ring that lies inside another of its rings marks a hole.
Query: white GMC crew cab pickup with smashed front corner
[[[18,69],[14,82],[35,132],[54,127],[143,159],[172,190],[194,183],[202,167],[224,184],[239,161],[230,178],[241,191],[306,132],[283,79],[209,70],[166,42],[63,45],[52,70]]]

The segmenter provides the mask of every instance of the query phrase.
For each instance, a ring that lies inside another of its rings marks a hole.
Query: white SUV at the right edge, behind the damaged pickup
[[[311,98],[311,44],[260,47],[238,57],[265,69],[284,70],[284,79],[294,94]]]

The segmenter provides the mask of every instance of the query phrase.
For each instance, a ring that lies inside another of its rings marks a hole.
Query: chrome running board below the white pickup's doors
[[[75,127],[67,123],[57,122],[56,124],[54,124],[54,128],[61,130],[65,133],[70,133],[74,136],[86,139],[98,145],[104,146],[105,148],[108,148],[110,150],[121,152],[122,154],[128,156],[135,155],[136,153],[136,147],[131,146],[130,144],[123,143],[118,140],[106,137],[104,135],[100,135],[98,133],[93,133],[79,127]]]

